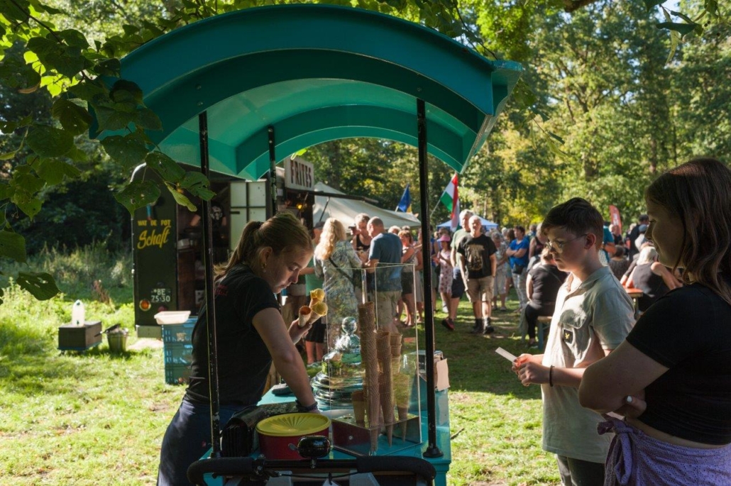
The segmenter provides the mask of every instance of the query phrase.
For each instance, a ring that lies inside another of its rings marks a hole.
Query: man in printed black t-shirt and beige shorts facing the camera
[[[474,313],[473,333],[490,334],[495,328],[490,324],[493,301],[493,279],[497,259],[492,238],[482,234],[480,216],[469,219],[470,232],[457,248],[459,267],[467,289],[467,297]]]

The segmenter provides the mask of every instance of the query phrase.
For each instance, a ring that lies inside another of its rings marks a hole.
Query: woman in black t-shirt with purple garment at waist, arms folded
[[[694,159],[645,190],[659,261],[683,268],[626,341],[591,365],[583,406],[616,411],[607,485],[731,482],[731,170]]]

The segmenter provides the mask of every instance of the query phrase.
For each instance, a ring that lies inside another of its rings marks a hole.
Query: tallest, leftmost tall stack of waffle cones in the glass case
[[[376,318],[374,304],[358,304],[358,328],[360,329],[360,355],[366,374],[363,377],[363,391],[366,395],[368,428],[371,429],[371,452],[378,450],[378,435],[381,431],[379,411],[381,408],[378,381],[378,350],[376,348]]]

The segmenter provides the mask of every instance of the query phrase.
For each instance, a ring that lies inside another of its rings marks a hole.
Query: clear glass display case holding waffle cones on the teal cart
[[[417,327],[398,317],[403,305],[415,316],[414,265],[324,267],[327,352],[312,386],[333,447],[388,455],[420,443]]]

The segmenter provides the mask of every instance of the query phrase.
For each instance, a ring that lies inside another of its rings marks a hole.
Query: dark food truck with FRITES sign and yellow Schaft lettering
[[[181,164],[186,170],[193,170]],[[145,164],[136,167],[132,180],[159,181]],[[213,263],[227,260],[238,243],[238,235],[249,221],[272,216],[271,183],[268,174],[254,181],[211,173],[210,203]],[[288,156],[276,167],[276,210],[288,210],[306,227],[313,225],[317,198],[361,200],[337,191],[317,188],[314,167],[300,156]],[[334,202],[333,205],[342,204]],[[163,311],[197,313],[205,293],[203,267],[202,208],[192,212],[178,205],[169,191],[161,191],[150,205],[132,215],[132,255],[135,324],[140,338],[161,338],[155,314]]]

